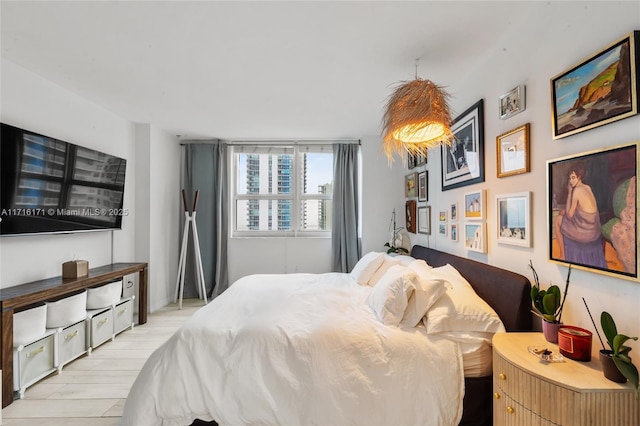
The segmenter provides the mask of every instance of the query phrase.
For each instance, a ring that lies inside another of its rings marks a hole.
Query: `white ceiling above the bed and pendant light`
[[[2,0],[2,57],[183,138],[360,138],[380,134],[416,58],[419,77],[453,85],[544,6]]]

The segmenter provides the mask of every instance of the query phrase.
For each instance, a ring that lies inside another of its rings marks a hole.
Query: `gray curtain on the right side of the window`
[[[355,143],[333,145],[333,224],[331,268],[350,272],[360,259],[358,229],[358,151]]]

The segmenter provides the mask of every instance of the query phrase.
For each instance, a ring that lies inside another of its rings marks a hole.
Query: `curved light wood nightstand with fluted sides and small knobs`
[[[529,346],[560,354],[542,333],[493,337],[494,425],[640,425],[640,401],[633,388],[606,379],[598,357],[545,362]]]

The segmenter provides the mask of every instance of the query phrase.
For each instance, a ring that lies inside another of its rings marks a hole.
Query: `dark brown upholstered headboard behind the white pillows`
[[[530,331],[531,282],[523,275],[443,251],[415,245],[411,256],[433,267],[456,268],[502,319],[507,331]]]

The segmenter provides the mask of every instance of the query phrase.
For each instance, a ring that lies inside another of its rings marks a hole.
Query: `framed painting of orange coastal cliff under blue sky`
[[[633,31],[551,79],[553,138],[638,113],[638,43]]]

